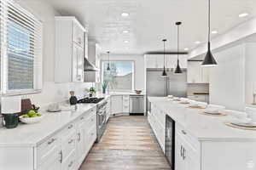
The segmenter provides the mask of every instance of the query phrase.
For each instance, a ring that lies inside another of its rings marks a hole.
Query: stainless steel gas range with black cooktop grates
[[[99,142],[102,138],[103,133],[107,127],[107,100],[104,98],[84,98],[79,99],[78,103],[83,104],[96,104],[96,128],[97,128],[97,139]]]

